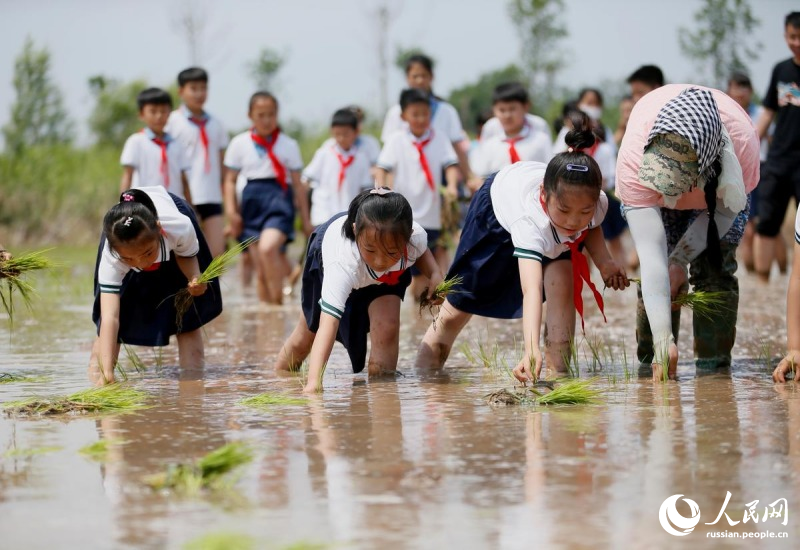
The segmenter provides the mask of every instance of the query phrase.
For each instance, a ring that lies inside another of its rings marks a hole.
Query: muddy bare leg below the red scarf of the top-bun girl
[[[563,376],[569,372],[572,355],[570,346],[575,341],[572,262],[558,260],[544,268],[544,294],[547,299],[544,338],[546,372],[549,376]]]

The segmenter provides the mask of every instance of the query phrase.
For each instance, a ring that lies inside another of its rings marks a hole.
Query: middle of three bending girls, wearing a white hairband
[[[308,356],[303,391],[320,391],[334,341],[347,349],[353,372],[361,372],[369,333],[369,374],[394,374],[400,301],[414,264],[428,279],[431,299],[442,274],[425,230],[412,220],[408,201],[389,189],[356,196],[347,215],[331,218],[311,235],[303,271],[303,317],[278,353],[278,370],[295,370]]]

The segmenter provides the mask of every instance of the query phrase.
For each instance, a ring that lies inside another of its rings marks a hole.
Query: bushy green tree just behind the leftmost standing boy
[[[95,99],[89,130],[98,144],[121,147],[142,127],[136,96],[148,87],[144,80],[122,83],[103,75],[89,79],[89,91]]]

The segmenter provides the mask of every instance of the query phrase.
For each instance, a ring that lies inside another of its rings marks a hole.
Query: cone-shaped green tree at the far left
[[[37,50],[27,38],[14,62],[11,117],[3,127],[6,150],[19,153],[27,146],[69,143],[73,124],[64,108],[61,90],[50,76],[50,52]]]

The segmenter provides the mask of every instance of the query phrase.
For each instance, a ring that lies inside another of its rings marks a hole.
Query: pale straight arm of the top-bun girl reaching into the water
[[[539,378],[542,370],[542,351],[539,349],[539,331],[542,326],[542,263],[519,259],[519,281],[522,286],[522,338],[525,355],[514,367],[514,377],[523,384]],[[531,371],[533,367],[533,371]]]

